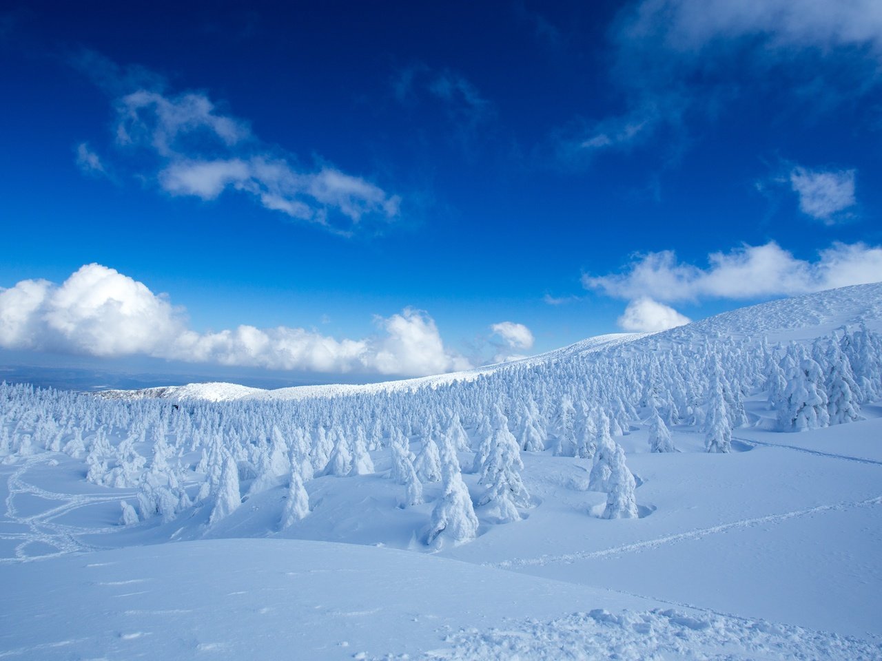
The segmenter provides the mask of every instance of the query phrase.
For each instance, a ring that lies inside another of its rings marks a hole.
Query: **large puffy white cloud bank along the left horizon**
[[[7,349],[380,375],[471,367],[445,346],[434,320],[421,310],[406,308],[377,323],[382,332],[362,339],[284,326],[200,333],[166,296],[101,264],[86,264],[60,286],[29,279],[0,289],[0,346]]]

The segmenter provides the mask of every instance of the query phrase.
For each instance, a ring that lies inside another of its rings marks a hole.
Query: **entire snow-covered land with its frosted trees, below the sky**
[[[0,657],[878,659],[882,284],[424,379],[0,387]]]

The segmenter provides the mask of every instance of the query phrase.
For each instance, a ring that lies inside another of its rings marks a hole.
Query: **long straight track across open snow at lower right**
[[[650,548],[657,548],[668,544],[676,544],[686,539],[699,539],[708,535],[714,535],[718,532],[725,532],[734,528],[750,528],[762,524],[774,524],[788,519],[797,518],[799,516],[809,516],[818,512],[844,511],[846,509],[856,509],[863,507],[872,507],[873,505],[882,505],[882,495],[874,496],[863,501],[840,502],[834,505],[818,505],[818,507],[795,509],[782,514],[770,514],[766,516],[756,516],[749,519],[741,519],[733,521],[729,524],[712,525],[708,528],[699,528],[692,531],[678,532],[674,535],[665,535],[654,539],[646,539],[632,544],[624,544],[622,546],[613,546],[611,548],[602,549],[600,551],[579,551],[576,553],[562,553],[560,555],[540,555],[538,558],[515,558],[501,562],[484,563],[490,567],[500,569],[512,569],[519,567],[542,567],[556,562],[574,562],[581,560],[591,560],[594,558],[606,558],[611,555],[621,555],[622,553],[640,552]]]

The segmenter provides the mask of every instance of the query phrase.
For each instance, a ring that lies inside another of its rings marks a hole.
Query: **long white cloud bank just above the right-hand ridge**
[[[882,246],[833,243],[814,262],[797,259],[774,241],[708,256],[706,269],[677,262],[671,250],[638,256],[627,271],[585,275],[582,285],[608,296],[635,300],[753,299],[818,292],[882,280]]]

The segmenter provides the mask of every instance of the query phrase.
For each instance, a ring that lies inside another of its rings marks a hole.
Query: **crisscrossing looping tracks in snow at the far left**
[[[9,479],[6,480],[8,494],[6,496],[4,513],[4,521],[0,522],[0,539],[11,540],[19,543],[15,546],[15,557],[0,557],[0,563],[8,564],[13,562],[32,562],[39,560],[48,560],[49,558],[57,558],[67,553],[82,553],[86,551],[98,550],[98,546],[86,544],[78,539],[78,535],[95,534],[95,533],[113,533],[119,529],[116,527],[103,528],[83,528],[69,524],[57,524],[53,519],[89,505],[101,502],[120,501],[127,496],[131,497],[134,491],[119,491],[112,495],[89,495],[89,494],[60,494],[47,491],[39,486],[35,486],[26,482],[25,474],[34,464],[41,464],[48,460],[48,457],[28,457],[20,464],[14,472],[11,473]],[[19,509],[15,505],[17,496],[31,495],[42,498],[46,501],[62,501],[63,504],[57,507],[46,509],[39,514],[32,516],[19,515]],[[4,524],[18,524],[26,526],[27,531],[22,532],[3,532]],[[41,553],[39,555],[31,555],[26,553],[27,546],[41,543],[45,546],[56,548],[56,553]]]

